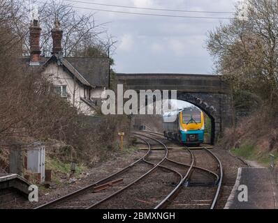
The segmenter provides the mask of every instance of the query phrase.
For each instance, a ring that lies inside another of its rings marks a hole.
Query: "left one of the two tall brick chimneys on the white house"
[[[40,37],[41,37],[41,27],[38,24],[38,20],[33,20],[30,28],[30,66],[40,65]]]

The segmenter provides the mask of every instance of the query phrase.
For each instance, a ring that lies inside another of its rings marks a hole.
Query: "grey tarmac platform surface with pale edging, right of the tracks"
[[[238,169],[237,180],[225,209],[277,209],[277,180],[277,171],[271,171],[268,168]],[[245,188],[245,192],[247,191],[248,201],[239,199],[243,196],[242,188]]]

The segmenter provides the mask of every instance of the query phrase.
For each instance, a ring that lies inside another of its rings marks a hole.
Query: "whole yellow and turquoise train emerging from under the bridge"
[[[186,107],[163,115],[163,133],[167,139],[199,145],[204,141],[204,131],[204,114],[197,107]]]

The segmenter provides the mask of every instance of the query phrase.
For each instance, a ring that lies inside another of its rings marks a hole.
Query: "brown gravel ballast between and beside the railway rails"
[[[158,138],[161,139],[161,137]],[[163,139],[162,141],[165,142],[168,147],[181,147],[181,145],[174,144],[172,141],[168,141],[166,139]],[[146,147],[144,144],[138,144],[138,146]],[[154,142],[152,142],[152,146],[159,147],[158,144]],[[169,151],[170,159],[177,162],[183,162],[185,164],[191,163],[191,156],[188,151],[181,149],[172,149]],[[246,167],[246,165],[236,157],[233,157],[226,150],[214,148],[211,151],[219,157],[224,167],[224,183],[222,185],[219,202],[217,203],[217,208],[220,209],[224,208],[226,200],[233,189],[233,185],[237,177],[237,169],[239,167]],[[75,190],[79,190],[82,187],[92,184],[101,178],[105,178],[128,166],[129,164],[135,162],[135,160],[138,160],[140,157],[145,155],[145,153],[147,153],[147,151],[136,151],[134,153],[116,157],[114,160],[108,160],[107,162],[98,165],[98,167],[90,169],[85,178],[82,178],[75,183],[59,185],[54,187],[52,190],[41,190],[40,199],[36,205],[25,202],[18,206],[13,206],[13,208],[34,208],[35,206],[40,206],[43,203],[62,197]],[[217,171],[217,165],[210,155],[204,151],[193,151],[193,153],[196,157],[198,167]],[[152,156],[148,159],[148,161],[157,163],[161,160],[160,158],[163,154],[164,151],[153,151]],[[168,167],[168,163],[163,163],[163,165]],[[173,169],[182,172],[181,167],[173,167]],[[138,174],[139,173],[141,173],[141,171],[138,171]],[[211,178],[207,177],[207,179],[205,179],[205,177],[207,176],[200,171],[194,171],[191,179],[194,179],[195,181],[200,178],[203,178],[204,181],[211,180]],[[127,179],[131,180],[133,178],[130,176]],[[109,190],[105,190],[101,193],[94,194],[94,196],[91,194],[93,197],[86,197],[84,206],[86,206],[88,202],[99,201],[112,191],[118,190],[129,183],[129,180],[124,181],[123,185],[117,185],[114,189],[111,188]],[[152,175],[148,176],[144,180],[141,180],[139,183],[129,188],[129,190],[126,190],[124,194],[119,194],[117,198],[112,199],[108,203],[103,203],[98,208],[154,208],[154,206],[156,206],[161,199],[173,190],[173,185],[175,183],[177,183],[177,176],[175,174],[158,169]],[[215,191],[214,187],[184,187],[177,199],[175,199],[175,201],[173,201],[168,208],[208,208],[208,203],[212,200],[212,191]],[[131,197],[133,197],[133,199],[130,199]],[[69,204],[69,206],[74,205]],[[82,205],[80,208],[82,208]]]

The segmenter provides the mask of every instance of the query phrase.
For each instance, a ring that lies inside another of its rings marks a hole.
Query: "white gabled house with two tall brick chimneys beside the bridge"
[[[62,35],[59,22],[55,22],[55,28],[52,30],[52,56],[41,56],[41,28],[38,20],[34,20],[30,27],[31,55],[25,60],[31,67],[43,68],[43,76],[50,80],[57,94],[69,100],[80,112],[92,115],[101,101],[101,94],[108,88],[109,59],[64,57]]]

